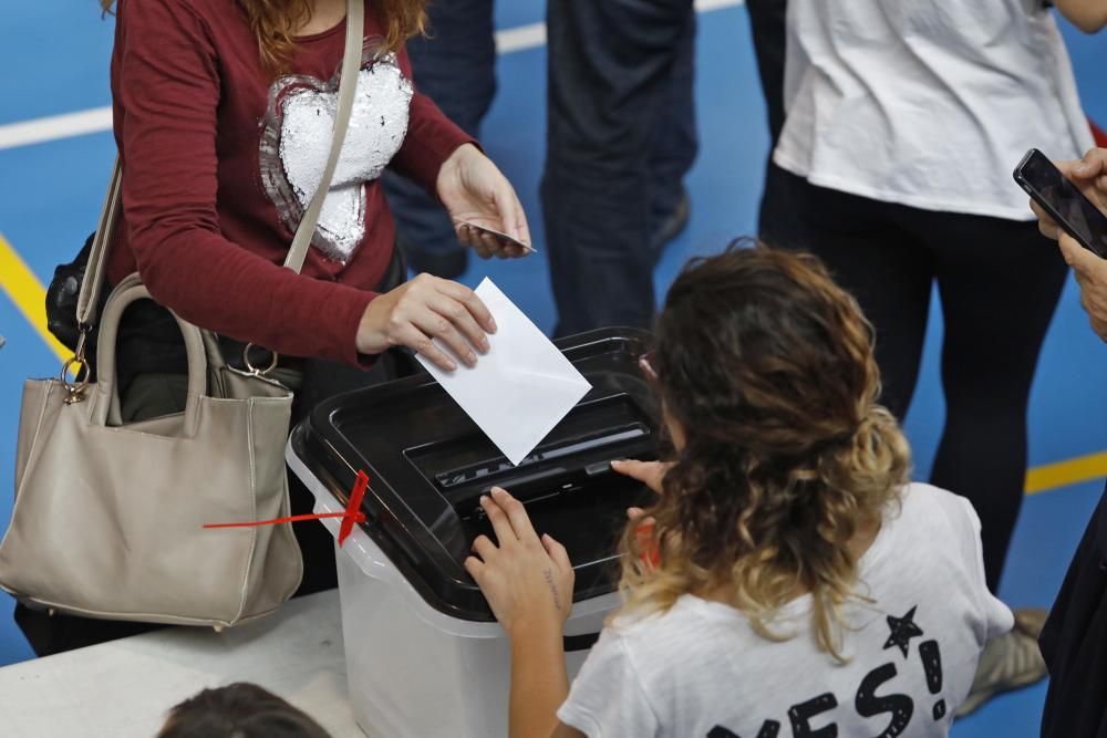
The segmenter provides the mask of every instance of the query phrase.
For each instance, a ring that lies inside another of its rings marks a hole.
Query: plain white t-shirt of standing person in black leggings
[[[1093,146],[1042,0],[788,0],[787,121],[774,160],[888,202],[1031,220],[1031,147]]]

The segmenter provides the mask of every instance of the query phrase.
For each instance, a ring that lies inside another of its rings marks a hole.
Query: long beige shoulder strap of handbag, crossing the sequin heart
[[[303,261],[308,256],[308,248],[311,246],[311,237],[314,235],[315,226],[319,222],[319,214],[323,209],[323,201],[330,191],[334,169],[338,167],[346,129],[350,127],[350,112],[353,110],[353,97],[356,92],[359,72],[361,71],[362,54],[364,53],[364,28],[365,1],[346,0],[345,50],[342,55],[342,69],[339,72],[338,110],[334,115],[334,131],[331,136],[330,154],[327,158],[327,166],[323,168],[323,177],[319,183],[319,188],[315,190],[314,196],[312,196],[311,201],[308,204],[308,208],[303,212],[303,217],[300,219],[300,225],[297,227],[296,236],[292,239],[292,246],[284,258],[284,267],[297,273],[303,268]],[[84,364],[84,342],[92,330],[92,324],[96,320],[96,300],[104,285],[107,250],[123,210],[122,194],[123,169],[120,164],[120,157],[116,155],[115,165],[112,168],[112,178],[107,186],[107,196],[104,198],[104,206],[100,211],[100,224],[96,227],[96,236],[92,241],[89,266],[81,282],[81,293],[77,295],[76,321],[81,329],[81,336],[77,339],[76,355],[66,363],[66,368],[74,363]]]

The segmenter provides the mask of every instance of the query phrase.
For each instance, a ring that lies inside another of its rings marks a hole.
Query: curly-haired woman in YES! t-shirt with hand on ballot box
[[[571,690],[565,549],[494,490],[466,569],[511,643],[511,738],[945,736],[1011,611],[969,502],[907,482],[872,334],[809,256],[691,262],[643,361],[675,457],[621,542],[625,603]]]

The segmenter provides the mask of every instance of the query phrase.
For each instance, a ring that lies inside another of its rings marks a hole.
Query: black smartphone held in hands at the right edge
[[[1036,148],[1015,167],[1015,181],[1057,225],[1100,259],[1107,259],[1107,216]]]

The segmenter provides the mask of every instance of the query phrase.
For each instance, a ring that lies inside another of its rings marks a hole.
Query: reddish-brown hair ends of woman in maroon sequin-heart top
[[[111,12],[116,0],[100,0]],[[232,0],[227,0],[231,2]],[[287,71],[296,53],[296,29],[311,18],[312,0],[237,0],[254,30],[266,69]],[[380,51],[399,51],[404,42],[426,29],[427,0],[376,0],[374,3],[387,28]]]

